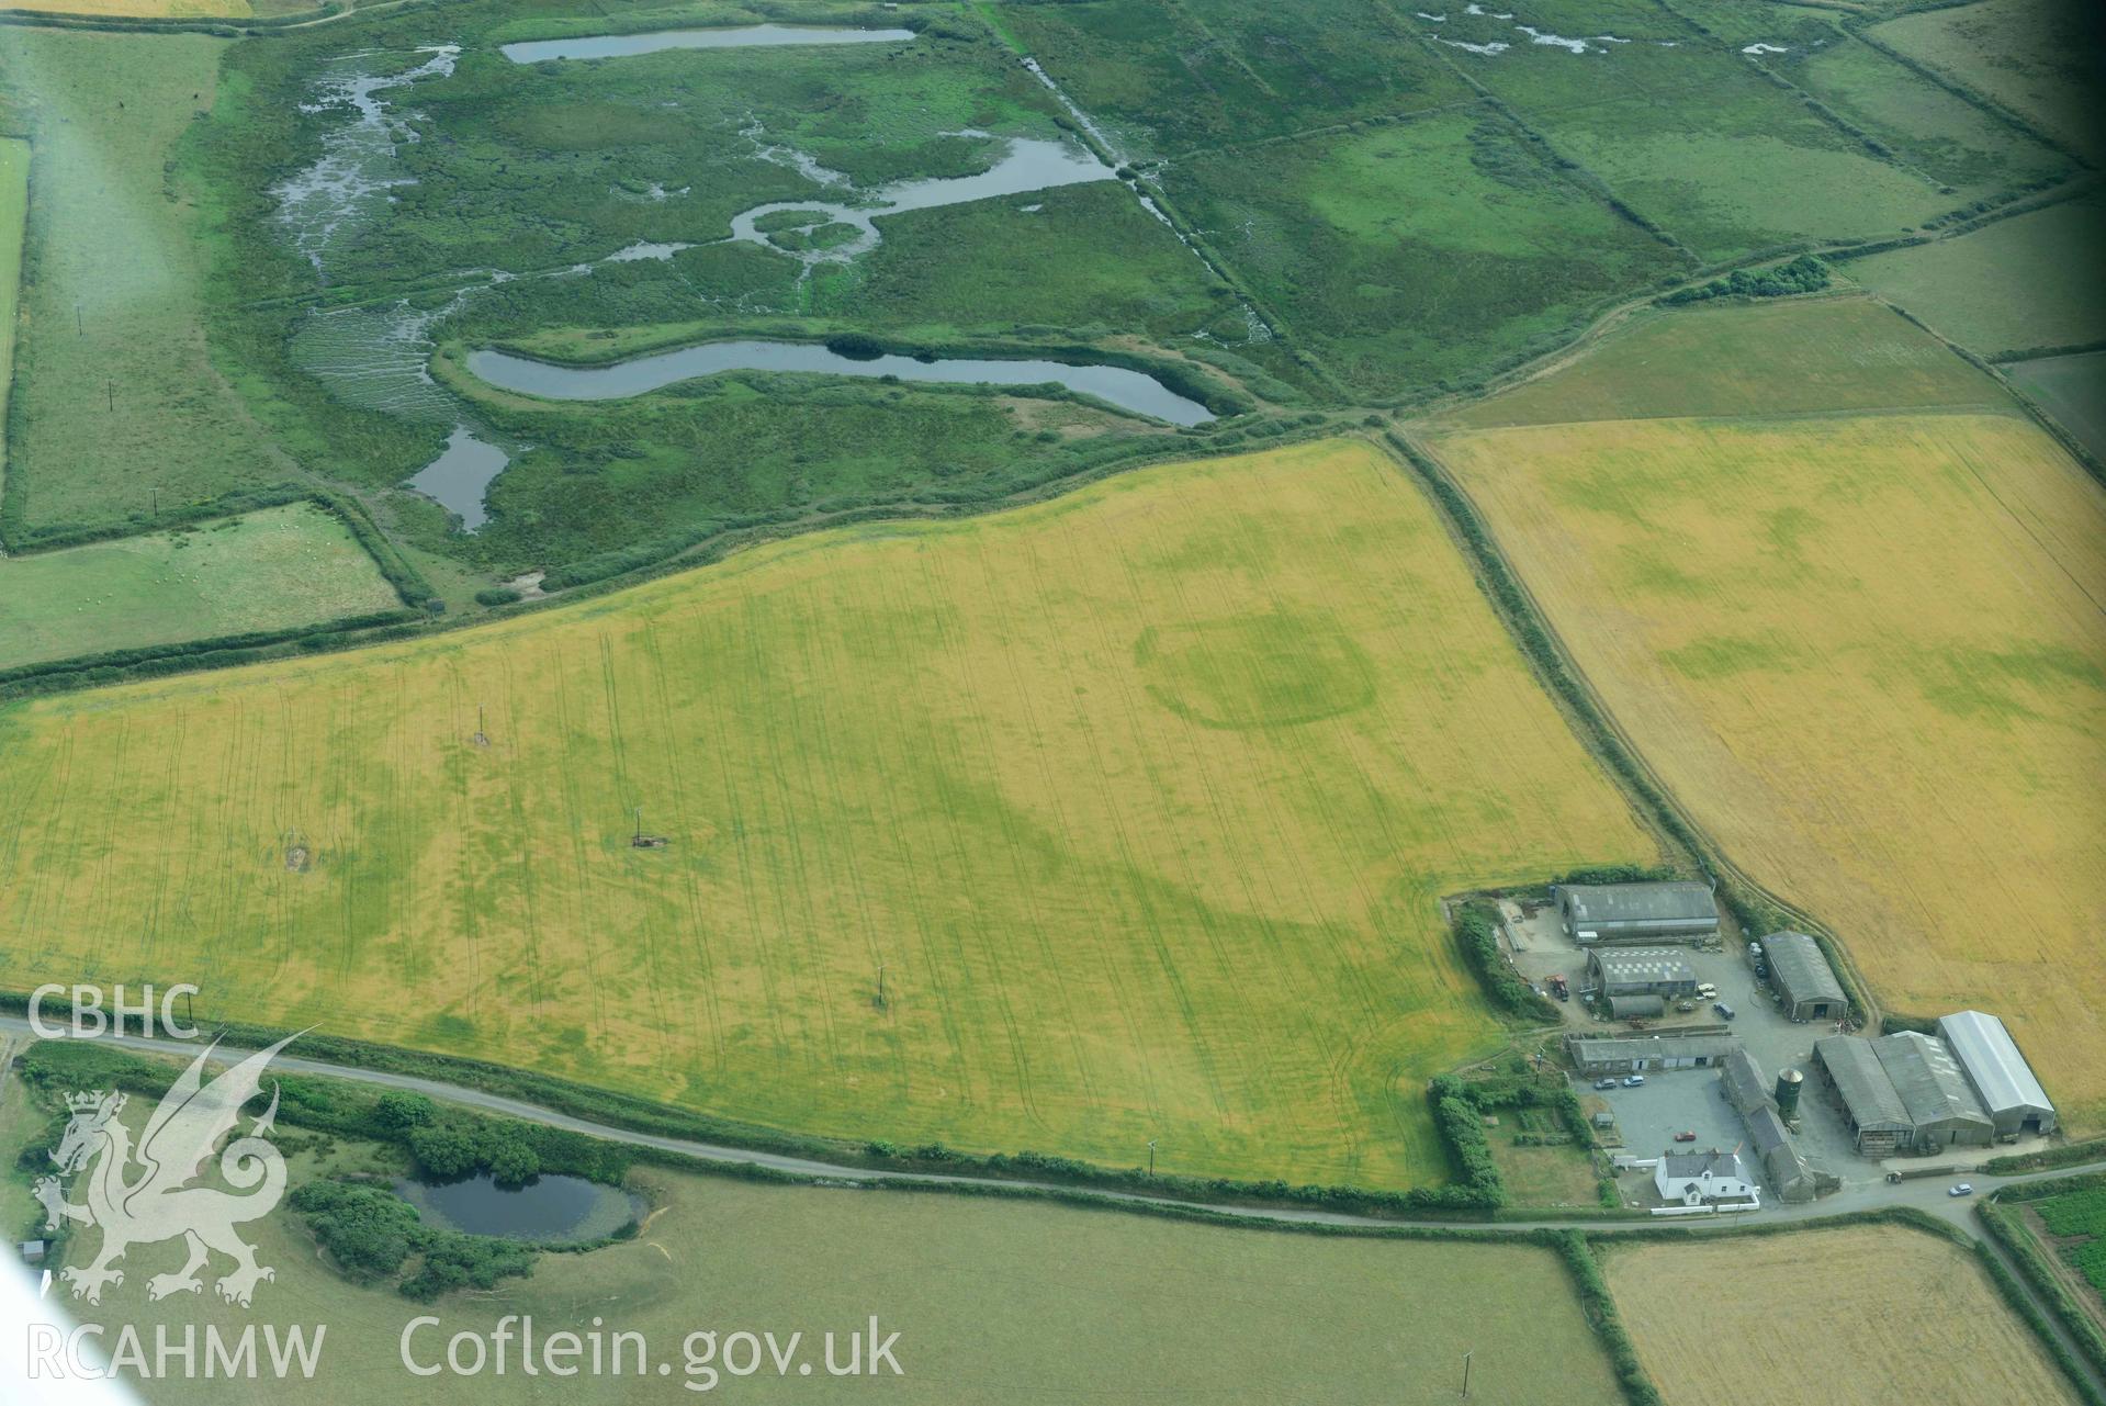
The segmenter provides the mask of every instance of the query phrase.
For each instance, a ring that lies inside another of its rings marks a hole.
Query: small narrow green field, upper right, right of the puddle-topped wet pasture
[[[1834,38],[1765,59],[1862,126],[1904,162],[1954,189],[1954,202],[2060,181],[2074,164],[2009,122],[1912,74],[1870,44]]]

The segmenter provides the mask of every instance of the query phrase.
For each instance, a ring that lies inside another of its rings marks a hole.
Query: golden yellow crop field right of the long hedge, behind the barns
[[[2106,1124],[2106,495],[2015,415],[1438,442],[1636,749],[1893,1010]]]

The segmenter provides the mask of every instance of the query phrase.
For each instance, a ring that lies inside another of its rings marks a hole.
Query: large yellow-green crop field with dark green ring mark
[[[4,987],[1390,1187],[1499,1038],[1436,895],[1655,855],[1363,442],[21,703],[0,794]]]

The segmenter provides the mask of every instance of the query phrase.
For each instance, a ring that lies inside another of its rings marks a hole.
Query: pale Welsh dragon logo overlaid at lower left
[[[162,1094],[160,1107],[139,1132],[137,1147],[118,1118],[124,1111],[124,1094],[93,1090],[65,1099],[72,1118],[57,1151],[51,1153],[59,1174],[38,1179],[36,1200],[44,1202],[44,1229],[78,1221],[103,1231],[95,1263],[59,1276],[76,1299],[101,1303],[105,1284],[124,1282],[124,1271],[114,1265],[131,1246],[177,1236],[183,1238],[190,1259],[175,1273],[150,1278],[150,1299],[200,1292],[204,1284],[198,1271],[208,1265],[213,1250],[234,1261],[234,1271],[221,1276],[217,1284],[219,1297],[227,1303],[249,1307],[257,1282],[276,1278],[276,1271],[257,1263],[255,1246],[234,1233],[236,1225],[270,1214],[284,1196],[284,1158],[263,1137],[278,1118],[276,1082],[270,1107],[253,1122],[249,1137],[234,1139],[219,1153],[221,1179],[242,1196],[187,1183],[204,1172],[204,1162],[219,1139],[234,1132],[242,1105],[263,1084],[265,1065],[293,1040],[295,1036],[286,1036],[267,1050],[257,1050],[206,1084],[204,1061],[219,1046],[215,1040]],[[82,1168],[86,1174],[78,1185],[86,1189],[86,1200],[69,1202],[59,1183]]]

